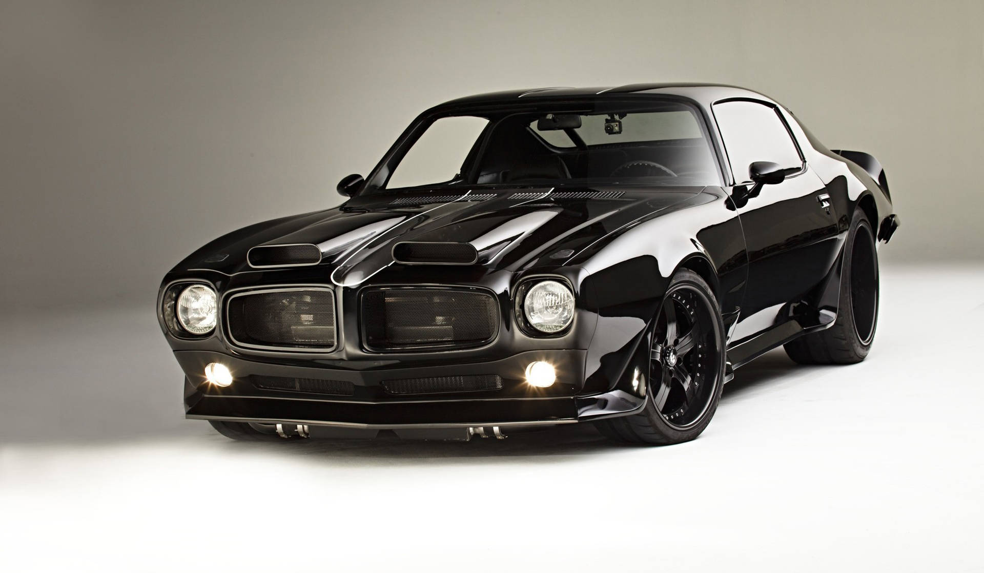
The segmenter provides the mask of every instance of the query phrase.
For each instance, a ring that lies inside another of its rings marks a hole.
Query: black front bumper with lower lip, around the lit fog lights
[[[643,404],[639,398],[617,391],[577,396],[583,387],[584,350],[531,350],[494,361],[398,368],[387,367],[385,361],[341,360],[323,360],[334,363],[305,367],[205,350],[181,350],[174,355],[186,375],[186,417],[195,419],[376,429],[509,426],[627,414]],[[525,384],[523,372],[533,360],[554,364],[557,382],[553,386],[542,389]],[[204,369],[209,362],[228,366],[235,379],[233,384],[217,388],[206,383]],[[493,392],[393,396],[381,385],[392,379],[470,374],[499,374],[503,388]],[[344,380],[353,384],[354,393],[336,397],[264,390],[250,382],[254,375]]]

